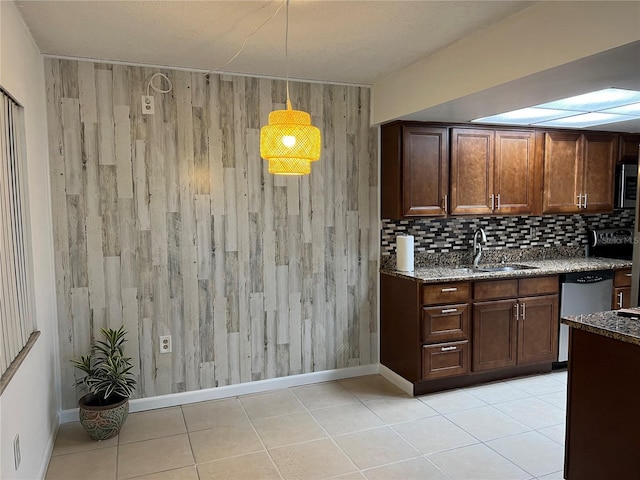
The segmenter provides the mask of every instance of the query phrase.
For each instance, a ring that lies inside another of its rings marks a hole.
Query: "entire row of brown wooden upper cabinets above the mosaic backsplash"
[[[613,211],[640,136],[397,121],[381,127],[381,216]],[[619,153],[620,152],[620,153]]]

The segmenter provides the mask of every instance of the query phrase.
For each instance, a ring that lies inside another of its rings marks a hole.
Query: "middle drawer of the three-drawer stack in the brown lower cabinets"
[[[422,342],[441,343],[467,340],[469,305],[443,305],[422,309]]]

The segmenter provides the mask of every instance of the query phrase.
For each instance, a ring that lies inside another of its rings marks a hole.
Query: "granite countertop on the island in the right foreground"
[[[562,317],[560,321],[572,328],[640,346],[640,309],[637,317],[623,317],[613,310]]]

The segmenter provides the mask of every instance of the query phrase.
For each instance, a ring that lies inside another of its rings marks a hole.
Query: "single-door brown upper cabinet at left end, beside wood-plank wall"
[[[448,129],[394,122],[381,128],[381,214],[447,214]]]

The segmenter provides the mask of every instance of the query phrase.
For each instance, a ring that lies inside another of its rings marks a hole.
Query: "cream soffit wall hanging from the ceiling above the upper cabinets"
[[[371,123],[404,118],[510,82],[511,90],[500,95],[530,96],[528,104],[547,101],[536,101],[540,92],[523,90],[515,81],[638,41],[639,25],[638,2],[538,2],[375,84]],[[578,81],[583,79],[572,79]],[[557,83],[562,77],[555,79],[554,89]]]

